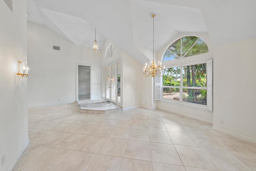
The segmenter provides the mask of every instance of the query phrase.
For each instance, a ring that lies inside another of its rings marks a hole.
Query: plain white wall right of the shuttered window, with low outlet
[[[214,48],[213,129],[256,143],[256,38]],[[220,124],[220,120],[224,124]]]

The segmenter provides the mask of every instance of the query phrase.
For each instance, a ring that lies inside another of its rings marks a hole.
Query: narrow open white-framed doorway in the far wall
[[[91,99],[91,65],[77,64],[76,100]]]

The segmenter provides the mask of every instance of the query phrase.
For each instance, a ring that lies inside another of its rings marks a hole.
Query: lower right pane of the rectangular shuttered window
[[[183,101],[207,105],[206,89],[183,89]]]

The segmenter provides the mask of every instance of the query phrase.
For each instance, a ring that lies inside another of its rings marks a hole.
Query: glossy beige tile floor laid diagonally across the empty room
[[[162,110],[28,109],[30,144],[13,171],[255,171],[256,144]]]

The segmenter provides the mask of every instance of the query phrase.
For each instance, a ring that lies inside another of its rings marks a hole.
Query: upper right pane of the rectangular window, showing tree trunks
[[[206,87],[206,64],[184,66],[183,87]]]

